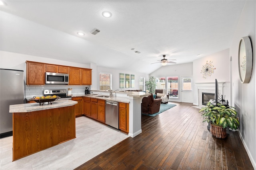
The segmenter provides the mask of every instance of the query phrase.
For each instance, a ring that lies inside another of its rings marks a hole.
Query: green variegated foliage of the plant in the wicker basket
[[[238,129],[239,121],[236,112],[236,108],[231,106],[224,106],[217,104],[212,105],[207,103],[206,107],[202,107],[199,111],[204,117],[204,121],[208,123],[211,121],[213,125],[222,126],[223,128],[230,127],[232,130]]]

